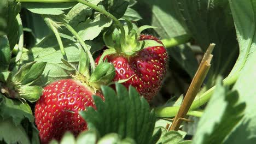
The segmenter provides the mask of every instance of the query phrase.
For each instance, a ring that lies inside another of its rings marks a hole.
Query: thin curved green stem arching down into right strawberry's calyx
[[[92,9],[95,9],[95,10],[99,11],[100,13],[102,13],[102,14],[104,14],[106,16],[109,16],[115,22],[115,25],[117,25],[120,28],[120,31],[121,31],[121,43],[125,44],[125,29],[124,29],[122,23],[114,15],[108,13],[108,11],[106,11],[104,9],[101,9],[97,5],[92,4],[90,2],[87,2],[87,1],[84,1],[84,0],[77,0],[77,2],[82,3],[84,5],[87,5],[88,7],[92,8]]]

